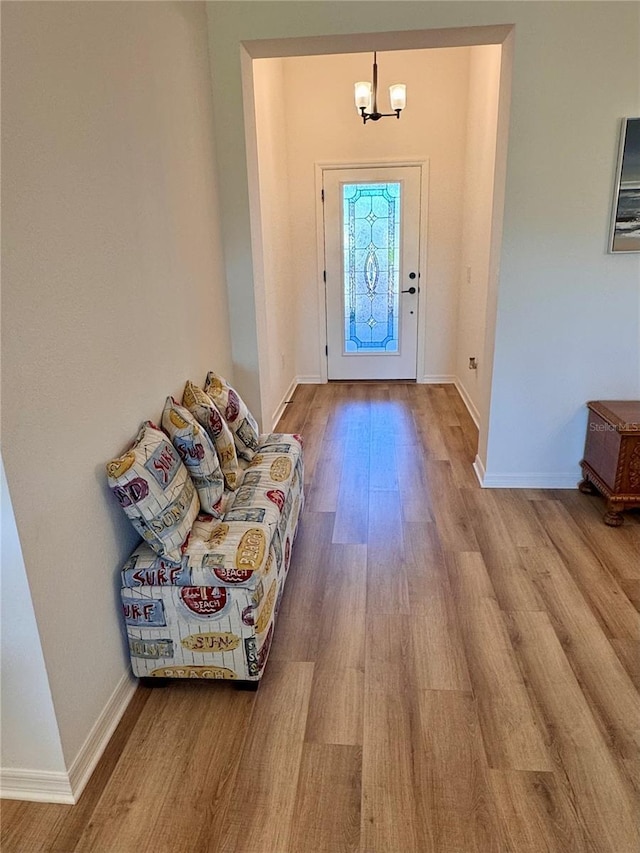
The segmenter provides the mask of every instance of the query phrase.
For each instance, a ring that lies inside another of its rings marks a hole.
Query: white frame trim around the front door
[[[420,383],[424,377],[424,362],[425,362],[425,318],[428,302],[428,282],[427,282],[427,212],[429,209],[429,160],[415,158],[398,159],[396,157],[377,160],[360,160],[357,163],[353,161],[319,161],[315,164],[315,187],[316,187],[316,257],[317,257],[317,284],[318,284],[318,318],[319,318],[319,345],[318,352],[320,363],[320,378],[321,381],[328,382],[328,361],[327,361],[327,300],[326,300],[326,283],[324,280],[324,271],[326,269],[325,248],[324,248],[324,202],[322,199],[322,187],[324,185],[324,173],[334,171],[335,169],[384,169],[400,166],[417,166],[420,168],[420,263],[418,272],[420,274],[419,282],[420,289],[418,292],[418,350],[417,350],[417,373],[416,382]]]

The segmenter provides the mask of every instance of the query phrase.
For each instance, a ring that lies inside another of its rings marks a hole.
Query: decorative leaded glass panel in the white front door
[[[400,183],[343,184],[344,352],[397,353]]]

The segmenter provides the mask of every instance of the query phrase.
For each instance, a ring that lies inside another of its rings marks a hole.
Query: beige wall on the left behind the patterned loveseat
[[[3,455],[69,768],[128,671],[104,463],[231,376],[205,10],[3,4],[2,63]]]

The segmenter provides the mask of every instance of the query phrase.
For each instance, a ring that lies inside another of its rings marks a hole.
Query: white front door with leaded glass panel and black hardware
[[[420,166],[323,172],[329,379],[415,379]]]

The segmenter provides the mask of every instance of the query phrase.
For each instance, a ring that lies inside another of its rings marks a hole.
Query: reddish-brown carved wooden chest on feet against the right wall
[[[619,527],[625,509],[640,507],[640,401],[597,400],[587,406],[584,479],[578,488],[590,494],[595,486],[607,499],[604,523]]]

